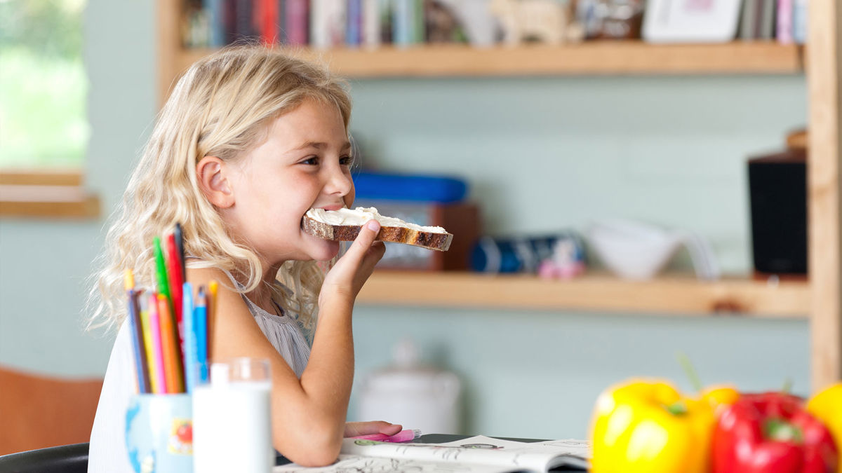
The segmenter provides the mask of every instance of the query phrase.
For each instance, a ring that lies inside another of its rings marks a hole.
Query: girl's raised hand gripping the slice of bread
[[[375,220],[366,222],[360,228],[360,235],[325,276],[319,294],[319,306],[322,306],[323,298],[328,295],[346,297],[349,302],[354,302],[374,271],[374,265],[386,252],[383,242],[374,241],[378,231],[380,223]]]

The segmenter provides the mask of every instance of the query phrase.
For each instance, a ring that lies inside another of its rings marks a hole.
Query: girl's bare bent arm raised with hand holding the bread
[[[299,465],[328,465],[336,460],[342,445],[354,379],[351,311],[357,293],[385,251],[381,242],[374,242],[377,230],[376,222],[373,228],[364,226],[326,275],[310,359],[301,380],[260,331],[239,294],[220,284],[216,296],[213,356],[269,359],[274,448]],[[208,284],[210,279],[228,280],[212,268],[189,269],[188,277],[194,287]]]

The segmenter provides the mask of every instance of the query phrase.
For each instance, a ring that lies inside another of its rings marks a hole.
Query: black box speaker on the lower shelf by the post
[[[807,274],[807,153],[749,159],[754,270]]]

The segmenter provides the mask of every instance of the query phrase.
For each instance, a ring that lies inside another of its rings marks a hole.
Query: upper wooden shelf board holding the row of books
[[[791,74],[803,72],[803,48],[774,41],[652,45],[637,40],[575,45],[477,48],[424,45],[377,49],[290,50],[324,61],[346,77],[453,77],[609,74]],[[208,49],[180,50],[183,72]]]

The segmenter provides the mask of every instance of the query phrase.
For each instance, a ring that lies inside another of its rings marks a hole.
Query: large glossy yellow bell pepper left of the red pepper
[[[591,472],[707,473],[717,407],[738,396],[730,387],[684,396],[663,380],[610,387],[594,407]]]

